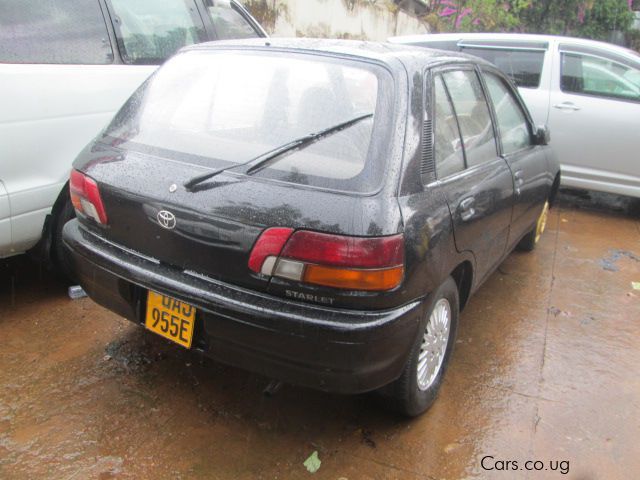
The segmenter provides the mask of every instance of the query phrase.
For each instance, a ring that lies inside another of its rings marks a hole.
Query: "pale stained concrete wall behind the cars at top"
[[[388,0],[244,0],[269,34],[385,40],[427,33],[425,23]]]

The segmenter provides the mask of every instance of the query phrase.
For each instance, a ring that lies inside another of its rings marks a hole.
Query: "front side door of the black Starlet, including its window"
[[[549,189],[544,149],[532,142],[532,125],[513,88],[500,75],[482,73],[491,99],[503,158],[515,186],[509,245],[535,225]]]

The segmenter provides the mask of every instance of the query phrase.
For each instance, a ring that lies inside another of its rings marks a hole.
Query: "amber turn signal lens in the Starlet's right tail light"
[[[349,290],[391,290],[402,282],[404,267],[380,269],[348,269],[307,265],[304,281]]]

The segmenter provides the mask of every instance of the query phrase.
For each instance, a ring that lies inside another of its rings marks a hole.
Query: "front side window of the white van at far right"
[[[562,53],[563,92],[640,101],[640,69],[591,55]]]

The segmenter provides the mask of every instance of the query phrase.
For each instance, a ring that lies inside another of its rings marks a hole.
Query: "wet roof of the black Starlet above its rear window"
[[[321,38],[251,38],[244,40],[221,40],[199,43],[183,49],[189,50],[276,50],[300,53],[334,54],[366,60],[375,60],[393,65],[402,63],[407,70],[424,69],[446,62],[472,62],[490,65],[482,59],[464,53],[437,50],[413,45],[398,45],[389,42],[360,40],[333,40]]]

